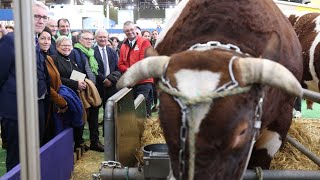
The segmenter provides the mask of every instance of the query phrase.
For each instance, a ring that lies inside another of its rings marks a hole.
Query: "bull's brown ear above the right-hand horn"
[[[261,57],[278,62],[280,60],[281,41],[276,32],[272,32],[268,38],[264,52]]]

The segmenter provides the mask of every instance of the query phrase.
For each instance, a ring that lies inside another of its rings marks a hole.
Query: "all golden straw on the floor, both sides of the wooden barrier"
[[[144,126],[145,131],[141,138],[141,147],[148,144],[165,143],[159,120],[147,120]],[[320,120],[294,120],[289,134],[320,157]],[[137,150],[135,156],[139,160],[140,165],[143,165],[143,153],[141,148]],[[103,153],[88,151],[79,161],[77,161],[71,179],[91,179],[92,174],[99,171],[102,161]],[[274,157],[271,163],[271,169],[320,170],[320,167],[286,142]]]

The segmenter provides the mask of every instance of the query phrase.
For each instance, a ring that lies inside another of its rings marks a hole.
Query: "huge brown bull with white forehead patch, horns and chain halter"
[[[159,55],[117,84],[159,81],[172,178],[241,179],[251,152],[249,168],[269,168],[302,94],[302,51],[290,22],[272,0],[183,0],[175,13]]]

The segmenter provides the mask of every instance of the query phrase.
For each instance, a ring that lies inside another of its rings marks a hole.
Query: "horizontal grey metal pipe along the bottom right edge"
[[[257,180],[255,170],[247,170],[244,180]],[[301,170],[263,170],[262,179],[264,180],[319,180],[320,171],[301,171]]]

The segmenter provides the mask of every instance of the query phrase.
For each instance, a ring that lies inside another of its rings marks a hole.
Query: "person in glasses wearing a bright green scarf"
[[[98,62],[94,57],[93,45],[93,33],[88,30],[83,30],[78,35],[78,43],[74,45],[75,57],[85,57],[85,60],[77,58],[78,63],[84,65],[84,71],[89,80],[96,85],[96,76],[98,75]],[[96,89],[96,87],[95,87]],[[99,141],[99,130],[98,130],[98,117],[99,117],[99,106],[91,106],[88,108],[87,121],[89,123],[90,131],[90,149],[98,152],[103,152],[104,147]]]

